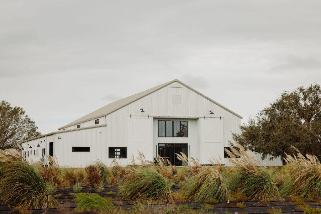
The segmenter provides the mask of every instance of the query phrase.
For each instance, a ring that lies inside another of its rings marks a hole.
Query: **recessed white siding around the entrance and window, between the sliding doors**
[[[187,137],[158,137],[158,121],[159,120],[175,120],[175,121],[187,121]],[[200,158],[199,147],[199,119],[171,119],[171,118],[154,118],[153,122],[153,135],[154,135],[154,146],[153,155],[158,156],[158,144],[159,143],[187,143],[188,156],[194,158]],[[156,147],[157,146],[157,147]]]

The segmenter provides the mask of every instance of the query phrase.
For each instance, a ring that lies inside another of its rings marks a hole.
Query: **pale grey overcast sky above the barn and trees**
[[[0,1],[0,100],[49,133],[179,79],[243,116],[321,83],[321,1]]]

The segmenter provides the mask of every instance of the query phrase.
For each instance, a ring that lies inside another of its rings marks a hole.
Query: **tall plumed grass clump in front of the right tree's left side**
[[[230,147],[225,149],[234,167],[228,175],[228,185],[231,191],[244,194],[249,200],[282,200],[279,189],[267,167],[261,167],[255,154],[237,144],[239,151]]]

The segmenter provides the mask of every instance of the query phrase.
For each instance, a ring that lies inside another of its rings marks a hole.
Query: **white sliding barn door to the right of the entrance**
[[[201,162],[210,164],[209,158],[217,158],[224,161],[223,119],[202,119],[201,127]]]

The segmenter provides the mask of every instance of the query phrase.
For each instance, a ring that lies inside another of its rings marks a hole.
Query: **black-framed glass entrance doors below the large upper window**
[[[175,154],[180,154],[179,152],[183,152],[187,156],[187,143],[158,144],[158,155],[164,159],[168,159],[172,165],[182,166],[182,161],[178,160],[177,155]]]

